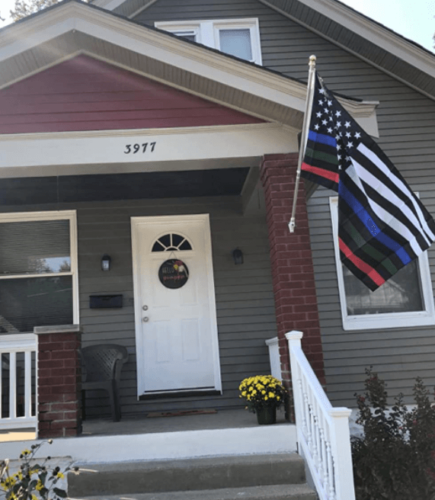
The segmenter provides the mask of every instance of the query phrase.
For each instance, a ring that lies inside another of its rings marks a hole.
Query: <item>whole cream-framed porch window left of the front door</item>
[[[0,333],[79,322],[75,211],[0,214]]]

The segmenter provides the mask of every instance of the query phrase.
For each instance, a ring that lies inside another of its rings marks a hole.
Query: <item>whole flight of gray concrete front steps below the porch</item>
[[[70,498],[315,500],[295,453],[89,466],[68,476]]]

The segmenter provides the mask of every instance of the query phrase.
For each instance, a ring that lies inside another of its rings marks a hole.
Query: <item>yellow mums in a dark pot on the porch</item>
[[[239,391],[239,397],[246,400],[246,408],[257,414],[260,425],[276,422],[276,409],[284,404],[287,397],[286,388],[272,375],[245,378]]]

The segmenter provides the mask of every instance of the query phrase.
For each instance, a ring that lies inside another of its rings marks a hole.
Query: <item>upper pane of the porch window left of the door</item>
[[[0,274],[71,271],[69,221],[0,224]]]

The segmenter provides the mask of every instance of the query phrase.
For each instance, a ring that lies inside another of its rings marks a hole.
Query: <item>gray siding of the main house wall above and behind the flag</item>
[[[295,16],[297,13],[295,13]],[[308,57],[317,55],[319,73],[335,92],[379,101],[380,146],[435,215],[435,103],[404,83],[332,44],[257,0],[158,0],[136,20],[155,21],[257,17],[263,64],[306,81]],[[364,48],[362,47],[361,50]],[[335,270],[329,193],[319,188],[309,201],[311,242],[319,300],[328,396],[335,405],[355,406],[370,365],[388,381],[392,394],[411,394],[413,380],[435,385],[435,328],[409,327],[345,332]],[[429,253],[432,274],[434,250]]]

